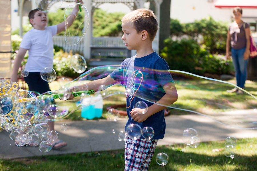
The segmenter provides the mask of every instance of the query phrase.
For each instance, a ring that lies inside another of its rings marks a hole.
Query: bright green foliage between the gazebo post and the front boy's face
[[[123,13],[107,13],[102,9],[96,9],[93,15],[93,36],[121,36],[121,19]]]

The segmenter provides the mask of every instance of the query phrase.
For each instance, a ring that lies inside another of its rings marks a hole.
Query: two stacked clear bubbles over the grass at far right
[[[237,144],[236,137],[229,136],[226,138],[225,147],[224,147],[225,156],[230,157],[232,159],[234,158],[234,156],[235,156],[234,148],[235,148],[236,144]]]

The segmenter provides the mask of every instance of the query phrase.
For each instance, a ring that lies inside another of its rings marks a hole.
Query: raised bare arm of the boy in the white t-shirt
[[[76,0],[75,3],[83,4],[83,1]],[[69,17],[67,17],[67,27],[68,28],[73,24],[78,12],[79,12],[79,5],[76,5],[76,7],[73,9],[72,13],[69,15]],[[57,34],[59,34],[60,32],[62,32],[64,30],[65,30],[65,21],[63,21],[57,25]]]

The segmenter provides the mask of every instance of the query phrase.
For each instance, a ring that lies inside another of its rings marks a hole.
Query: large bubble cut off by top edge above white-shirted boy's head
[[[34,3],[40,11],[50,13],[59,9],[63,0],[34,0]]]

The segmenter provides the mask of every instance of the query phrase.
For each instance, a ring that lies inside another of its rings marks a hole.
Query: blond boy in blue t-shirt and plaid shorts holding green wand
[[[150,140],[144,139],[142,136],[136,140],[126,136],[125,171],[145,171],[148,170],[158,139],[164,137],[166,127],[164,109],[166,107],[162,105],[171,105],[178,99],[178,95],[174,81],[167,71],[169,70],[167,62],[152,49],[152,41],[158,30],[158,22],[154,13],[148,9],[132,11],[123,17],[121,27],[124,32],[122,40],[124,40],[125,46],[129,50],[136,50],[136,55],[125,59],[121,66],[106,78],[89,82],[87,86],[89,90],[98,91],[101,85],[111,86],[117,82],[125,84],[128,114],[126,127],[135,123],[141,128],[152,127],[155,132],[154,137]],[[146,69],[152,70],[152,73],[146,72]],[[142,74],[144,74],[143,77]],[[158,83],[158,85],[154,84],[152,86],[153,82]],[[145,88],[147,85],[152,86],[150,91]],[[75,86],[71,88],[71,91],[79,91],[85,88],[84,85]],[[132,91],[132,89],[135,91]],[[153,90],[155,90],[154,93]],[[150,103],[136,97],[142,93],[152,93],[152,97],[155,99],[151,99],[151,101],[156,103]],[[161,93],[161,95],[158,93]],[[71,96],[70,99],[73,98]],[[142,113],[140,110],[144,109],[134,108],[138,101],[147,103],[148,111],[146,113],[140,114]]]

